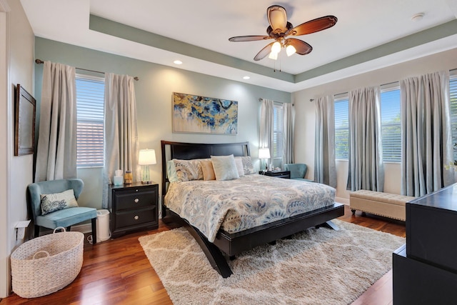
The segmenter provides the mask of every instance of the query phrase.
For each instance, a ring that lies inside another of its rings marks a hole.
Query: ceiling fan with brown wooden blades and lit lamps
[[[282,6],[273,5],[266,9],[266,16],[270,24],[266,29],[268,36],[235,36],[229,38],[229,41],[256,41],[274,39],[275,41],[268,44],[254,57],[255,61],[263,59],[269,54],[269,58],[277,59],[281,48],[286,48],[288,56],[292,54],[306,55],[313,51],[313,47],[305,41],[295,38],[286,38],[287,36],[301,36],[305,34],[315,33],[328,29],[336,24],[338,19],[336,16],[323,16],[321,18],[307,21],[299,26],[293,27],[287,21],[286,9]]]

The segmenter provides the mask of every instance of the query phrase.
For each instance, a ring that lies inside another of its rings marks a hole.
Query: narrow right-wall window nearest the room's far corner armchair
[[[347,160],[349,153],[349,99],[335,97],[335,157]]]

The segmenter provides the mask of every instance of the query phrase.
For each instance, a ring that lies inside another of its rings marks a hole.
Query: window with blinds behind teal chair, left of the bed
[[[104,166],[104,91],[103,78],[76,74],[78,167]]]

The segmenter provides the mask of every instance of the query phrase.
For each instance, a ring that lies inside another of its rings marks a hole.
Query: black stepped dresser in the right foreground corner
[[[457,184],[406,203],[393,304],[457,304]]]

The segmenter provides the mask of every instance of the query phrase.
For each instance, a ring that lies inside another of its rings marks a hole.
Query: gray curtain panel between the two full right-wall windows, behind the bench
[[[348,189],[383,191],[382,151],[380,89],[350,91]]]

